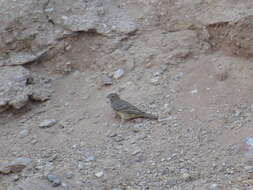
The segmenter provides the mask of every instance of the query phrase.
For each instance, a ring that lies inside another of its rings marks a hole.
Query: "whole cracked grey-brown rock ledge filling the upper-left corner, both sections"
[[[136,30],[111,0],[2,0],[0,18],[0,66],[37,61],[73,32],[112,36]]]

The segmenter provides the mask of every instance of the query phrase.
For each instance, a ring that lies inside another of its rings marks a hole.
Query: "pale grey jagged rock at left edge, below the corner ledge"
[[[52,90],[47,80],[32,75],[22,66],[0,67],[0,112],[9,107],[20,109],[29,99],[47,100]]]

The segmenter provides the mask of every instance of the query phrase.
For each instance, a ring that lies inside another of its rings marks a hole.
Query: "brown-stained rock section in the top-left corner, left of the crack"
[[[0,66],[36,61],[57,43],[63,29],[48,21],[46,2],[0,1]]]

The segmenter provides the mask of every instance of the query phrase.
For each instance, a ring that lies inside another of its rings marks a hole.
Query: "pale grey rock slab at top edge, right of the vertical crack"
[[[135,22],[111,0],[52,0],[47,5],[53,22],[73,32],[96,31],[110,36],[136,31]]]

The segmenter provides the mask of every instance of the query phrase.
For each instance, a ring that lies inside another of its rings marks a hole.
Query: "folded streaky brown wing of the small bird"
[[[139,114],[143,114],[145,112],[139,110],[137,107],[135,107],[134,105],[128,103],[127,101],[125,100],[118,100],[118,101],[115,101],[114,104],[112,105],[113,108],[116,110],[116,111],[119,111],[119,112],[126,112],[126,113],[129,113],[129,114],[136,114],[136,115],[139,115]]]

